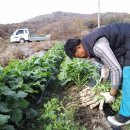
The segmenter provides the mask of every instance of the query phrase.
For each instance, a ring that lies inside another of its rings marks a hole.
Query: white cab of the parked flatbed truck
[[[30,41],[29,30],[17,29],[10,37],[10,42],[20,42]]]

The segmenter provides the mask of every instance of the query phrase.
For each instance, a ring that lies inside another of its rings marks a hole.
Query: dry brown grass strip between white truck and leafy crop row
[[[24,44],[0,44],[0,64],[6,66],[11,59],[28,58],[36,52],[48,50],[53,47],[55,41],[30,42]]]

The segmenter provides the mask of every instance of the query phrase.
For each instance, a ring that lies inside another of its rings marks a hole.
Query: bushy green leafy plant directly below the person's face
[[[61,64],[61,72],[58,75],[62,85],[73,83],[82,87],[88,82],[93,82],[99,77],[96,67],[86,59],[66,59]]]

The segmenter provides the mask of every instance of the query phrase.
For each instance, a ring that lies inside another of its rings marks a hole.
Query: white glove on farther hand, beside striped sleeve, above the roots
[[[108,79],[109,76],[109,68],[107,66],[103,66],[101,68],[101,77],[100,77],[100,82],[104,82]]]

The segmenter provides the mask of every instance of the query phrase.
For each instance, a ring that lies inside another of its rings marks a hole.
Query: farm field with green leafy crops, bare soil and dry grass
[[[0,129],[130,130],[106,120],[119,111],[121,92],[104,111],[83,105],[87,87],[96,95],[108,91],[109,82],[96,84],[100,67],[88,59],[70,60],[63,43],[1,43]]]

